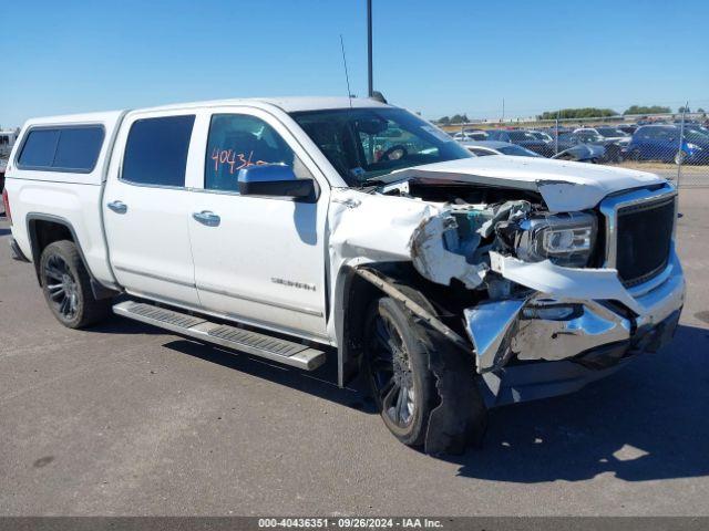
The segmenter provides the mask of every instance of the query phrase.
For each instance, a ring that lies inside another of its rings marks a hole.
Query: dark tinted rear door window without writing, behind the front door
[[[195,116],[137,119],[131,126],[122,179],[141,185],[185,186]]]

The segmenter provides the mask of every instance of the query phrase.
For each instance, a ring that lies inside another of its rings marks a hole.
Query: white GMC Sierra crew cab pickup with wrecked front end
[[[113,310],[306,371],[331,356],[429,452],[657,351],[685,296],[665,179],[477,158],[372,100],[31,119],[3,198],[64,325]]]

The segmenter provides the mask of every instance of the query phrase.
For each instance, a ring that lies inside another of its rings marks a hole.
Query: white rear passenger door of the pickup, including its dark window
[[[110,260],[130,292],[197,306],[185,186],[195,114],[129,115],[103,195]]]

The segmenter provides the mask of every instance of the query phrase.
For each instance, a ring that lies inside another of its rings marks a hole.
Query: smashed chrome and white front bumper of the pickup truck
[[[496,258],[493,269],[534,294],[464,312],[477,371],[495,404],[574,391],[617,368],[628,355],[656,352],[672,337],[685,300],[674,250],[659,275],[631,289],[614,270]]]

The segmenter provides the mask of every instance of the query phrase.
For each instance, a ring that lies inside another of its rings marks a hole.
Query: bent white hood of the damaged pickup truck
[[[634,169],[506,155],[414,166],[391,177],[535,190],[552,212],[594,208],[609,194],[666,183],[655,174]]]

